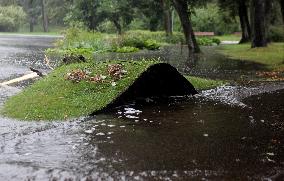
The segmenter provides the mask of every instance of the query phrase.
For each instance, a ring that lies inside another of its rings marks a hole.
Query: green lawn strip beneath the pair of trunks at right
[[[271,43],[264,48],[251,48],[250,44],[223,45],[218,52],[231,59],[266,65],[271,70],[284,69],[284,43]]]

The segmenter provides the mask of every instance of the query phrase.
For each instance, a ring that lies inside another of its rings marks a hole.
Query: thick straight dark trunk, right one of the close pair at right
[[[266,0],[252,0],[252,48],[267,46],[265,2]]]

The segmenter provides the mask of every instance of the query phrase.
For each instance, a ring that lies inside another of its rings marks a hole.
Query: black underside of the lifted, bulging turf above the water
[[[197,93],[193,85],[176,68],[167,63],[158,63],[150,66],[125,92],[102,111],[135,100],[145,100],[146,98],[164,100],[171,96],[186,96]]]

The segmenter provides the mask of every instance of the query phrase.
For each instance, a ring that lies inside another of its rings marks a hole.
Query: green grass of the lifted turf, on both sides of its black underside
[[[110,64],[120,63],[127,71],[116,85],[108,75]],[[156,61],[109,61],[101,63],[70,64],[57,68],[51,74],[9,98],[1,113],[21,120],[64,120],[89,115],[101,110],[124,92],[148,67]],[[90,76],[106,75],[104,82],[94,83],[82,80],[78,83],[66,80],[73,70],[90,72]],[[188,77],[196,89],[213,88],[221,81]]]

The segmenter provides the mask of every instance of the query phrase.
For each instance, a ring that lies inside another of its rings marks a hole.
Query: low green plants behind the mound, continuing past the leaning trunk
[[[182,33],[166,36],[164,32],[129,31],[123,35],[87,32],[78,28],[70,28],[64,38],[56,42],[56,49],[48,49],[49,56],[83,55],[87,59],[94,53],[117,52],[131,53],[141,49],[158,50],[161,45],[184,42]],[[199,45],[212,46],[220,44],[220,40],[211,37],[198,37]]]

